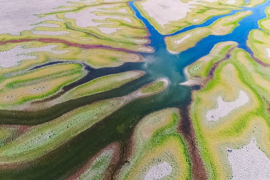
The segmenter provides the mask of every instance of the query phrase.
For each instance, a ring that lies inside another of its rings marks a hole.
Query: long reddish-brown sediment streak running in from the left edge
[[[16,40],[7,40],[7,41],[0,41],[0,45],[4,45],[7,43],[22,43],[22,42],[29,42],[29,41],[40,41],[44,43],[63,43],[67,46],[71,47],[78,47],[82,49],[107,49],[107,50],[115,50],[121,51],[125,53],[137,53],[136,51],[132,51],[125,48],[115,48],[109,45],[101,45],[101,44],[78,44],[72,43],[63,39],[54,39],[54,38],[40,38],[40,39],[16,39]]]

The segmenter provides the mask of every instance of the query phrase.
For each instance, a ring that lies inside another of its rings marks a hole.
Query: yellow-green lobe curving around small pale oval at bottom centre
[[[163,179],[191,179],[191,160],[187,142],[177,132],[180,119],[177,108],[168,108],[145,116],[133,133],[132,156],[117,179],[143,179],[148,170],[167,162],[172,172]]]

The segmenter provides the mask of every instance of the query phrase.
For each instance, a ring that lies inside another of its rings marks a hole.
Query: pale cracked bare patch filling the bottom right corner
[[[269,179],[270,160],[257,147],[255,138],[242,149],[227,149],[232,168],[232,180]]]

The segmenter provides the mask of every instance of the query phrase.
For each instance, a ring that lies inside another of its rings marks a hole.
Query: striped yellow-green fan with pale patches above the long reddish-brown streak
[[[75,4],[76,6],[70,4],[70,6],[65,7],[72,8],[70,10],[39,14],[41,17],[55,15],[57,18],[64,20],[42,21],[41,19],[41,24],[52,23],[60,27],[39,26],[32,31],[22,31],[19,36],[1,34],[0,39],[40,39],[57,36],[57,39],[78,44],[99,44],[142,52],[153,51],[151,47],[145,46],[148,42],[148,32],[144,28],[145,25],[135,17],[127,2],[106,2],[104,4],[103,1],[96,1],[91,4],[83,2]],[[77,22],[80,21],[81,17],[89,19],[89,23],[78,24]],[[97,22],[100,24],[97,24]],[[54,35],[55,32],[61,31],[65,33]],[[42,32],[46,33],[42,34]]]

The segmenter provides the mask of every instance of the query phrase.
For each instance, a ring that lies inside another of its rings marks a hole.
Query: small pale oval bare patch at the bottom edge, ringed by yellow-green
[[[173,167],[169,165],[168,162],[160,163],[156,166],[151,167],[151,169],[147,172],[146,176],[143,178],[144,180],[156,180],[161,179],[165,176],[168,176],[173,170]]]

